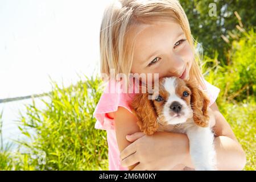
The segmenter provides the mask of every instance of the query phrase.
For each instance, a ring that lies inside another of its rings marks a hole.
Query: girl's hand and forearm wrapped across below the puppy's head
[[[184,164],[189,154],[187,135],[156,132],[152,136],[142,132],[126,137],[131,143],[120,154],[121,165],[129,167],[139,162],[132,170],[171,170]]]

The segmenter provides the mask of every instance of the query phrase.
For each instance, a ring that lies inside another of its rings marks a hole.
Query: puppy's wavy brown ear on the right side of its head
[[[209,98],[192,81],[187,82],[187,86],[191,90],[191,109],[194,122],[201,127],[208,127],[209,115],[207,108],[210,104]]]

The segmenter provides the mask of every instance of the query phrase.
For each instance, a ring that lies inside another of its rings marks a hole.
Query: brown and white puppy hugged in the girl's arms
[[[187,134],[195,169],[216,170],[214,134],[209,127],[214,115],[208,97],[193,81],[164,77],[158,83],[151,93],[140,90],[129,104],[139,128],[146,135],[156,131]]]

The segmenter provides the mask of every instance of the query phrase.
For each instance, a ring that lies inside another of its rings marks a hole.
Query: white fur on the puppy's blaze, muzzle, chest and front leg
[[[189,152],[191,154],[192,163],[196,170],[216,170],[216,152],[214,150],[214,134],[210,127],[200,127],[193,121],[191,106],[188,106],[175,93],[176,78],[165,78],[164,88],[170,94],[163,108],[163,115],[168,125],[171,127],[159,127],[159,131],[172,131],[175,133],[185,133],[189,139]],[[171,117],[170,104],[178,101],[182,105],[184,115],[180,118]],[[214,115],[208,107],[209,123],[212,123]],[[178,127],[174,127],[179,124]]]

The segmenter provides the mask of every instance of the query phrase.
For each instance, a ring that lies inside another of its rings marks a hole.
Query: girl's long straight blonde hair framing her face
[[[199,67],[200,59],[195,51],[187,15],[177,0],[116,0],[106,7],[100,31],[100,71],[110,76],[110,69],[115,75],[123,73],[129,77],[133,63],[135,36],[129,36],[131,27],[155,20],[174,20],[184,31],[195,59],[189,78],[206,89]],[[193,77],[191,77],[193,76]]]

